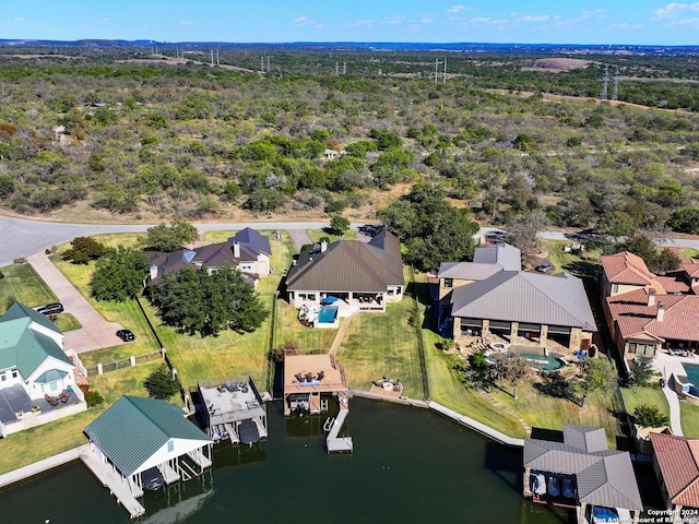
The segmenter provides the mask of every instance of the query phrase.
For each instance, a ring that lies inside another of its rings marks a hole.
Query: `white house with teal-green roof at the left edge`
[[[0,434],[86,409],[76,368],[85,372],[78,355],[63,349],[63,334],[54,322],[14,302],[0,317]]]

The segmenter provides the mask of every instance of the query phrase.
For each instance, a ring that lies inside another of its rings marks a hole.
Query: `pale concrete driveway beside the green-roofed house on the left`
[[[56,269],[46,254],[33,254],[27,258],[27,261],[58,297],[66,312],[71,313],[82,324],[82,329],[64,333],[67,349],[85,353],[123,344],[116,336],[117,330],[123,326],[118,322],[107,322]]]

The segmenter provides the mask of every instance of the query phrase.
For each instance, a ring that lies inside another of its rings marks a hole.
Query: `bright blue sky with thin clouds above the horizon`
[[[0,38],[699,45],[699,1],[0,0]]]

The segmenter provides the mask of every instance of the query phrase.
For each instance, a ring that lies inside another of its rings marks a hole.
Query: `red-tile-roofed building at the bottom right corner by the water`
[[[699,439],[651,433],[653,469],[663,502],[671,514],[665,522],[682,524],[699,515]]]

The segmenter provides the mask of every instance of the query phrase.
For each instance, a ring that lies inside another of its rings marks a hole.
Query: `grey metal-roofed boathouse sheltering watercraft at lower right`
[[[580,524],[638,522],[643,510],[631,457],[608,449],[603,428],[564,424],[562,442],[526,439],[523,464],[524,497],[574,507]]]

